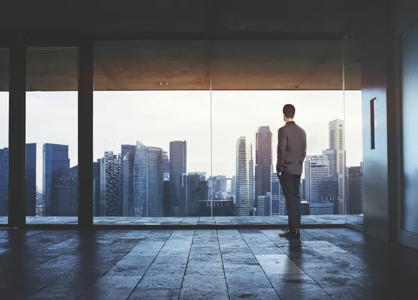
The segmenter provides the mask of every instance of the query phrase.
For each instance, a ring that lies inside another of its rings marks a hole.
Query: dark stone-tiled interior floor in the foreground
[[[417,299],[418,251],[301,232],[0,230],[0,299]]]

